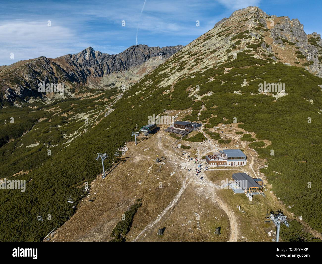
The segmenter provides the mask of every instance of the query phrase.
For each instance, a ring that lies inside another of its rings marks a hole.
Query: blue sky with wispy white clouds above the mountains
[[[136,41],[160,47],[187,45],[249,5],[270,15],[298,18],[307,34],[322,34],[321,0],[7,0],[0,9],[0,65],[74,54],[89,46],[115,54]]]

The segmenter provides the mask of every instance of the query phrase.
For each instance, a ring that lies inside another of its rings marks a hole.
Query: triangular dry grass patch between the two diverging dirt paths
[[[190,184],[177,204],[141,241],[228,241],[229,220],[213,203],[213,195],[212,188]],[[217,227],[221,227],[220,236],[214,234]],[[166,228],[163,236],[157,235],[159,228]]]

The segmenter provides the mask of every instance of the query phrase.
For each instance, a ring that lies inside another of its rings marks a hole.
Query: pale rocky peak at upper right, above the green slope
[[[230,50],[232,54],[234,51],[247,49],[247,46],[254,43],[261,46],[267,56],[275,61],[304,67],[311,73],[322,77],[321,36],[317,32],[306,34],[303,24],[297,18],[268,15],[256,6],[249,6],[236,10],[229,18],[223,18],[217,22],[213,31],[218,32],[219,30],[225,32],[223,34],[225,37],[220,39],[227,44],[223,46],[226,47],[225,52]],[[236,38],[238,42],[231,43],[235,39],[234,36],[241,32],[245,36],[238,37]],[[246,36],[248,34],[249,36]],[[219,33],[216,35],[222,37]],[[261,43],[258,43],[259,41]],[[256,51],[253,49],[253,52],[258,58],[265,57],[260,49]]]

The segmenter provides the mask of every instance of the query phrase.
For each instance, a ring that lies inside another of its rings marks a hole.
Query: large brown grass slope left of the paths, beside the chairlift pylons
[[[98,177],[92,182],[89,197],[82,200],[75,215],[59,228],[55,241],[109,241],[111,230],[136,199],[142,198],[143,205],[134,218],[134,230],[143,229],[171,202],[181,187],[180,177],[170,177],[174,169],[166,160],[166,165],[155,163],[155,155],[152,155],[155,149],[143,151],[150,144],[145,143],[148,141],[150,139],[137,146],[132,146],[132,142],[128,144],[130,149],[136,148],[135,155],[142,153],[140,162],[132,155],[105,179]],[[131,155],[131,150],[126,154]],[[163,188],[158,187],[160,181]]]

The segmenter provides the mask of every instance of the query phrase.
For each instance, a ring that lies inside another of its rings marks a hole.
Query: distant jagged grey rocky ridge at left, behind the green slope
[[[109,55],[88,47],[74,55],[55,59],[39,57],[19,61],[0,68],[0,100],[27,101],[33,97],[46,99],[48,95],[37,92],[39,83],[65,83],[66,94],[56,97],[75,97],[75,93],[89,88],[119,87],[134,83],[154,69],[183,46],[149,47],[135,45],[125,51]],[[126,76],[123,74],[129,71]],[[112,76],[111,76],[112,75]],[[118,78],[116,75],[119,75]],[[52,95],[49,95],[52,98]],[[49,99],[47,98],[47,99]]]

